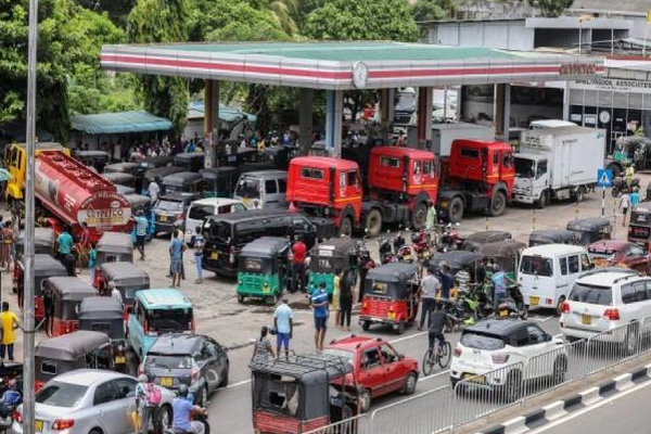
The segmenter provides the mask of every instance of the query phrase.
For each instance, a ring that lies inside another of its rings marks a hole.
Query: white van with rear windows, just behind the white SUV
[[[520,258],[518,283],[529,309],[556,309],[582,272],[592,268],[588,252],[578,245],[546,244],[525,248]]]

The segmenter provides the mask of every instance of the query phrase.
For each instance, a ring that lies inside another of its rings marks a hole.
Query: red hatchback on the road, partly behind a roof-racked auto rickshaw
[[[356,336],[332,341],[326,354],[343,357],[353,363],[353,373],[346,375],[346,384],[353,385],[353,375],[361,388],[359,407],[366,412],[371,399],[393,392],[411,395],[418,382],[418,361],[396,352],[380,337]],[[341,383],[340,383],[341,384]]]

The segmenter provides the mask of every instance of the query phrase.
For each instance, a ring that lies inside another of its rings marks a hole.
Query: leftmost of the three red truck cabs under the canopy
[[[360,225],[361,179],[355,162],[326,156],[292,158],[286,199],[291,209],[332,218],[341,234]]]

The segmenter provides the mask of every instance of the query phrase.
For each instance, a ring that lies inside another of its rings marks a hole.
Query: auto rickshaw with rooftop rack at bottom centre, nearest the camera
[[[258,434],[314,432],[359,412],[357,379],[343,355],[293,354],[289,359],[253,359],[248,367],[253,429]],[[353,387],[344,385],[346,375],[353,376]],[[358,433],[356,422],[340,429],[341,434]]]

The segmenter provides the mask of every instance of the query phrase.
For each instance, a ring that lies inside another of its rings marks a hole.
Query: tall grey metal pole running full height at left
[[[34,176],[36,149],[36,47],[38,0],[29,0],[27,54],[27,176],[25,186],[25,282],[23,315],[23,433],[34,434]]]

